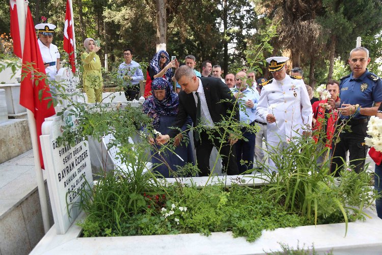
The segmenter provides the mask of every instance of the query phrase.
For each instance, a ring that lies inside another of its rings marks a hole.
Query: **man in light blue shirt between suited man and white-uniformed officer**
[[[236,88],[233,91],[233,95],[237,99],[240,109],[240,122],[250,124],[254,122],[256,117],[256,107],[259,101],[260,95],[256,88],[249,88],[247,85],[247,74],[244,71],[240,71],[236,74],[235,82]],[[239,174],[253,169],[253,159],[255,153],[255,140],[256,134],[248,131],[246,127],[242,127],[241,132],[244,139],[239,139],[236,142],[236,161]]]

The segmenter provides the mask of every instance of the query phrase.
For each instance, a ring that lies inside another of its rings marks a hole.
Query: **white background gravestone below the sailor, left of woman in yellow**
[[[59,82],[65,89],[65,94],[69,96],[70,100],[72,101],[78,101],[78,96],[73,95],[73,93],[77,92],[76,86],[78,84],[78,77],[75,77],[73,75],[73,72],[70,68],[68,67],[63,67],[60,68],[60,70],[57,72],[56,75],[56,82]],[[68,107],[69,104],[69,99],[63,99],[63,98],[58,98],[62,99],[63,107]]]

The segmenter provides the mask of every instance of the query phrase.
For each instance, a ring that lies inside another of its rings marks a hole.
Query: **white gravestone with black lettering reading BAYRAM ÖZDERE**
[[[74,117],[67,113],[63,115],[64,120],[61,116],[45,118],[40,136],[57,234],[65,234],[80,213],[75,205],[80,200],[78,192],[93,187],[88,142],[76,141],[74,146],[57,143],[63,132],[62,126],[75,125]]]

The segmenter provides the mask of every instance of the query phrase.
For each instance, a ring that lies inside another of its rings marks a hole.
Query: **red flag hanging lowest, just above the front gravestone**
[[[31,110],[35,115],[41,168],[44,168],[39,139],[41,136],[41,125],[45,118],[56,113],[52,100],[46,98],[51,95],[48,92],[50,91],[49,86],[45,83],[45,75],[45,67],[36,38],[35,25],[33,24],[31,10],[28,7],[21,70],[20,105]]]

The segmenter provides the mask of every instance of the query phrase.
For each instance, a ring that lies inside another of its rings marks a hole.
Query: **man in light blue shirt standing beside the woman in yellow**
[[[118,78],[123,80],[125,96],[128,101],[138,100],[140,91],[139,82],[143,81],[143,72],[140,64],[132,60],[132,50],[123,50],[125,62],[118,67]]]

